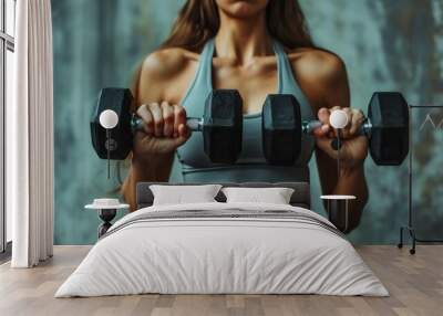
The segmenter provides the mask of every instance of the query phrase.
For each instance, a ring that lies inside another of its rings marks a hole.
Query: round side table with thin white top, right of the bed
[[[349,227],[349,203],[356,200],[354,196],[321,196],[326,201],[328,220],[333,223],[338,230],[346,233]]]

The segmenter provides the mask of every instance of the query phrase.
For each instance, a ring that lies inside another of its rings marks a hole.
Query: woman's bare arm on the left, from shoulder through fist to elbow
[[[135,110],[145,123],[145,130],[134,135],[131,168],[122,186],[131,211],[136,209],[136,183],[168,181],[175,148],[186,141],[183,128],[177,135],[178,125],[185,123],[186,114],[182,107],[165,102],[164,95],[166,84],[173,83],[181,70],[181,62],[176,54],[154,52],[143,62],[133,86]],[[174,129],[167,126],[174,126]]]

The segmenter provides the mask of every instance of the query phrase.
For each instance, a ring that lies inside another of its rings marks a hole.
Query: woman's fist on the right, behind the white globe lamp
[[[361,110],[350,107],[334,106],[332,108],[322,107],[318,112],[318,119],[322,123],[320,128],[313,133],[317,147],[324,151],[332,159],[338,158],[338,150],[331,146],[331,141],[337,139],[338,130],[332,128],[329,123],[330,114],[333,110],[342,109],[348,115],[348,125],[341,129],[340,140],[340,161],[343,167],[361,165],[368,155],[368,138],[359,135],[364,116]]]

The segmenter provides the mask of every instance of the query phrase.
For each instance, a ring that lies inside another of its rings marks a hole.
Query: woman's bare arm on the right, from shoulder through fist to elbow
[[[323,194],[351,194],[349,230],[358,227],[362,210],[368,201],[368,187],[363,162],[368,152],[364,136],[352,135],[362,123],[361,113],[350,109],[350,92],[344,63],[333,53],[322,50],[306,50],[289,55],[293,73],[319,119],[328,125],[333,107],[344,108],[351,118],[346,136],[349,138],[340,149],[341,168],[337,170],[337,151],[330,141],[332,130],[316,133],[316,158]],[[351,133],[350,133],[351,131]]]

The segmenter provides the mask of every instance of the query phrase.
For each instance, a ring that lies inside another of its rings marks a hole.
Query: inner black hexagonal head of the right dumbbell
[[[261,115],[262,149],[268,164],[293,165],[301,151],[300,104],[291,94],[271,94]]]

